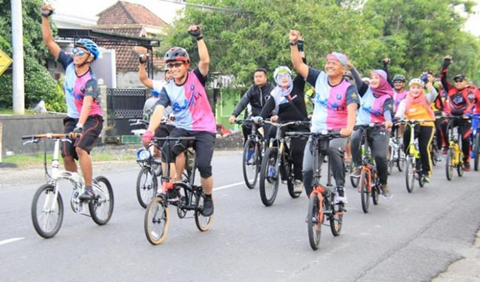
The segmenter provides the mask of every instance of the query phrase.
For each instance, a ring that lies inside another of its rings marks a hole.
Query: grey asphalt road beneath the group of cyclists
[[[416,185],[411,194],[403,173],[395,171],[389,177],[394,198],[381,197],[369,214],[348,184],[341,235],[334,238],[323,227],[320,248],[312,251],[304,194],[292,199],[280,185],[274,205],[263,206],[258,185],[249,190],[243,184],[239,153],[214,157],[213,171],[212,229],[198,231],[193,218],[180,220],[172,207],[169,233],[159,246],[144,235],[145,209],[134,190],[136,164],[105,173],[114,188],[115,209],[103,227],[73,214],[71,188],[62,182],[64,221],[49,240],[36,234],[30,218],[41,179],[34,185],[4,185],[0,280],[429,281],[468,252],[480,227],[479,172],[447,181],[440,162],[432,183]]]

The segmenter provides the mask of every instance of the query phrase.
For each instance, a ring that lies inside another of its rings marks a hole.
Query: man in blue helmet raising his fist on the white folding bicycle
[[[62,142],[62,157],[65,169],[77,172],[75,159],[80,162],[80,168],[85,181],[85,189],[79,198],[89,201],[95,195],[92,189],[92,161],[90,151],[93,149],[103,128],[103,113],[97,100],[97,79],[90,64],[97,60],[99,49],[97,44],[89,39],[80,39],[74,44],[72,53],[65,53],[56,44],[51,35],[49,16],[53,14],[51,5],[43,4],[42,36],[43,42],[50,53],[62,64],[65,70],[64,92],[67,101],[67,117],[64,118],[64,133],[75,138],[71,142]]]

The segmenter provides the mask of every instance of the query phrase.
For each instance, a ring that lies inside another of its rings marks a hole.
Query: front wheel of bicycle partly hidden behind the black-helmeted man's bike
[[[139,204],[145,208],[148,203],[152,201],[156,196],[158,188],[158,180],[156,172],[149,166],[144,166],[139,176],[136,177],[136,198],[139,200]]]

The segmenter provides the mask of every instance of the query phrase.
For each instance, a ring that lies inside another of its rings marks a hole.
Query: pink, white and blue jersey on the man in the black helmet
[[[187,81],[182,85],[171,79],[160,92],[157,105],[171,105],[177,127],[188,131],[207,131],[217,133],[208,97],[206,96],[206,77],[198,68],[187,73]]]

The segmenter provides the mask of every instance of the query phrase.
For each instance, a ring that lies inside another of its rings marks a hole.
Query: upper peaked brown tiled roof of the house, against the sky
[[[143,5],[118,1],[99,14],[97,25],[152,25],[163,27],[167,25],[161,18],[150,12]]]

